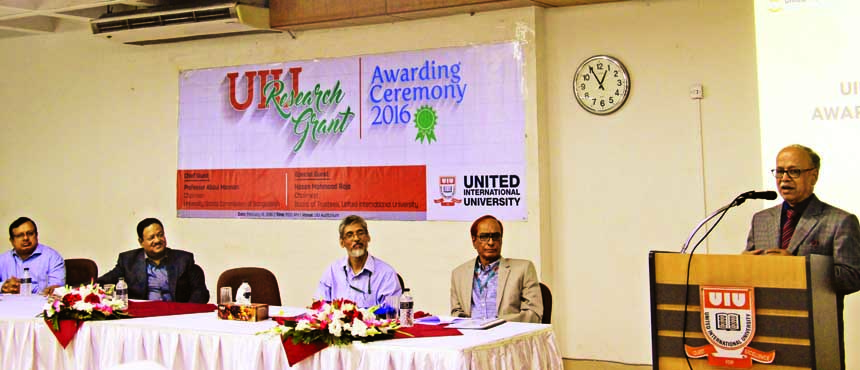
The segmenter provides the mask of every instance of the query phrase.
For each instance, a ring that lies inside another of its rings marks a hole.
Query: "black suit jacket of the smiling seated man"
[[[167,268],[170,294],[176,302],[208,303],[209,289],[203,269],[194,263],[194,254],[168,249],[167,258],[161,263]],[[99,284],[116,284],[120,277],[128,284],[128,297],[149,299],[148,278],[146,276],[146,254],[143,248],[119,254],[113,270],[99,277]]]

